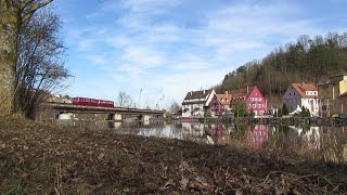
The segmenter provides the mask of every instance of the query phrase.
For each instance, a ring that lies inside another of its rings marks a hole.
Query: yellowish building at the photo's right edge
[[[331,77],[325,82],[319,83],[318,89],[324,116],[332,116],[333,114],[344,112],[342,102],[344,102],[345,95],[342,94],[347,92],[347,75]]]

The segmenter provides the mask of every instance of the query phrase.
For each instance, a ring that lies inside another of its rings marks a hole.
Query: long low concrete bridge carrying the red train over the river
[[[85,106],[75,105],[68,103],[48,103],[56,115],[66,113],[78,114],[106,114],[107,120],[123,120],[127,117],[136,117],[138,120],[150,120],[150,118],[163,118],[163,110],[155,109],[140,109],[130,107],[98,107],[98,106]]]

